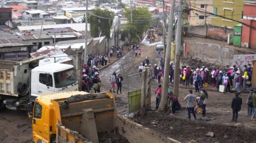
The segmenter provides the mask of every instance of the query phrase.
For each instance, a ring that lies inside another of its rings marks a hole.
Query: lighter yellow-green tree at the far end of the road
[[[133,13],[133,23],[137,30],[137,35],[142,38],[143,32],[145,32],[152,23],[151,13],[148,11],[148,7],[136,7],[132,10]],[[125,8],[124,15],[131,23],[130,9]]]

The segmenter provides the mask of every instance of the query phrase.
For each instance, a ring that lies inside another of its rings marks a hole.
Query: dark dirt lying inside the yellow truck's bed
[[[118,132],[104,132],[98,134],[100,143],[129,143],[128,140]]]

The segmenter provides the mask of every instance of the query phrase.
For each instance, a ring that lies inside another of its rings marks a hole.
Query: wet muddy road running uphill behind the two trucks
[[[100,77],[102,81],[101,91],[109,92],[109,89],[111,88],[111,84],[109,80],[113,71],[115,71],[117,75],[121,73],[122,77],[124,78],[124,84],[122,86],[122,94],[116,94],[112,90],[112,93],[115,95],[117,110],[119,114],[124,115],[128,113],[128,104],[127,104],[128,103],[128,97],[127,97],[128,86],[129,86],[129,91],[135,91],[137,89],[141,89],[140,75],[135,75],[132,77],[128,77],[128,75],[133,75],[138,73],[139,65],[142,63],[142,61],[146,57],[149,58],[151,65],[154,66],[155,64],[157,64],[158,66],[160,66],[161,58],[156,57],[157,51],[155,50],[156,43],[157,41],[160,41],[160,40],[161,40],[161,37],[156,37],[155,43],[153,44],[149,44],[149,42],[147,41],[142,41],[141,44],[139,45],[139,48],[141,49],[141,57],[135,58],[135,52],[131,50],[122,58],[117,60],[115,63],[113,63],[112,65],[109,65],[108,67],[100,71]],[[152,82],[151,84],[152,93],[158,85],[156,82],[157,81],[156,79],[153,81],[155,82]],[[115,87],[115,92],[116,90],[117,90],[117,86]],[[155,100],[155,99],[152,98],[152,100]]]

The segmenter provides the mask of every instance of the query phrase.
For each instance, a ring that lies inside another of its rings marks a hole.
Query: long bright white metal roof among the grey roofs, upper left
[[[41,29],[41,25],[37,26],[17,26],[21,30],[32,30],[32,29]],[[84,31],[85,23],[68,23],[68,24],[52,24],[52,25],[43,25],[43,29],[53,29],[53,28],[67,28],[70,27],[75,31]],[[90,24],[88,24],[88,31],[90,31]]]

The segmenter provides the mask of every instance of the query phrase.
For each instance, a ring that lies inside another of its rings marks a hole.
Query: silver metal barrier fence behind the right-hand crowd
[[[187,57],[187,55],[217,61],[224,65],[230,65],[233,60],[234,50],[221,48],[220,45],[217,44],[185,42],[184,56]]]

